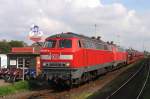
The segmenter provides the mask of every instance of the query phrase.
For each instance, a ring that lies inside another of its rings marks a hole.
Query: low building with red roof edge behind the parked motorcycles
[[[40,47],[14,47],[7,54],[7,68],[40,69]]]

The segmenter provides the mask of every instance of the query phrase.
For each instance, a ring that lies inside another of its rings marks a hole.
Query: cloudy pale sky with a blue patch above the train
[[[148,4],[150,0],[0,0],[0,39],[31,44],[28,34],[36,24],[43,39],[69,31],[150,51]]]

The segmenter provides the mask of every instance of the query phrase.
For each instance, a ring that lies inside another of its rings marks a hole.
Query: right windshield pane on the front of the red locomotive
[[[60,48],[71,48],[72,47],[72,40],[59,40],[59,47]]]

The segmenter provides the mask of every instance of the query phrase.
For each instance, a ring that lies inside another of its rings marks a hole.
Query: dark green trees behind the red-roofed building
[[[11,41],[0,41],[0,52],[9,53],[12,47],[24,47],[27,44],[23,41],[11,40]]]

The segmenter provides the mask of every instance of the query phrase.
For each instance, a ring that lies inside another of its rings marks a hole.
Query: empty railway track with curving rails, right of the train
[[[126,82],[107,96],[106,99],[142,99],[149,76],[150,61],[146,60]]]

